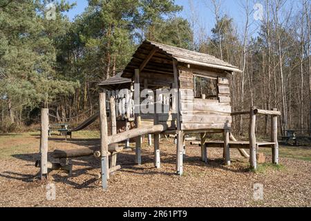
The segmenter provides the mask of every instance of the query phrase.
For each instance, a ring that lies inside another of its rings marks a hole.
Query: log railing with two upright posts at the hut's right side
[[[271,142],[274,143],[272,148],[272,162],[279,164],[279,143],[278,143],[278,121],[277,117],[281,116],[281,112],[276,108],[271,111],[257,109],[251,107],[250,111],[242,111],[232,113],[232,116],[236,115],[249,115],[249,162],[252,168],[256,169],[256,115],[271,115]]]

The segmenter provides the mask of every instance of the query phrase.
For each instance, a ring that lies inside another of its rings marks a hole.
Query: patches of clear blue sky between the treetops
[[[81,14],[84,9],[88,5],[87,0],[68,0],[70,3],[77,3],[77,6],[70,10],[67,13],[70,20],[73,20],[76,15]],[[214,27],[214,16],[211,10],[207,7],[207,3],[209,0],[192,0],[194,3],[195,14],[196,14],[196,23],[197,29],[199,27],[204,28],[205,32],[208,34],[210,33],[211,28]],[[207,2],[207,3],[205,3]],[[237,27],[239,28],[238,31],[241,32],[244,26],[244,12],[241,8],[241,1],[236,0],[223,0],[223,13],[229,15],[234,19]],[[176,4],[183,6],[182,12],[180,12],[180,16],[185,17],[186,19],[191,18],[191,7],[189,4],[189,0],[176,0]]]

